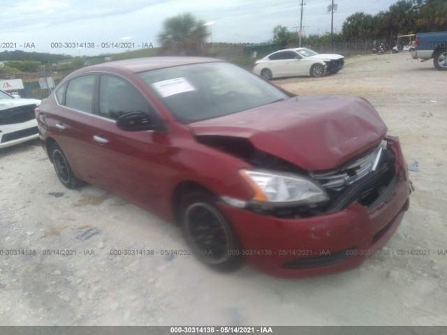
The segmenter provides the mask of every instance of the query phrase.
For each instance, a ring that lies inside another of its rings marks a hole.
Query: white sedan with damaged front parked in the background
[[[323,77],[337,73],[344,67],[344,57],[339,54],[318,54],[307,47],[273,52],[254,64],[253,72],[266,80],[278,77],[309,75]]]

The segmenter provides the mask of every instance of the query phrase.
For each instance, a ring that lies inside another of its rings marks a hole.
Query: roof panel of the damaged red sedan
[[[222,61],[221,59],[207,57],[146,57],[135,59],[124,59],[122,61],[109,61],[103,64],[87,66],[82,68],[82,72],[96,70],[127,70],[132,73],[140,73],[157,68],[170,68],[173,66],[199,64]],[[78,71],[77,71],[78,72]],[[81,71],[80,71],[81,72]]]

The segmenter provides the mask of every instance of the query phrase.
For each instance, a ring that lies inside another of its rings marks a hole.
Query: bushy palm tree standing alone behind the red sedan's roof
[[[162,54],[202,55],[205,53],[205,40],[209,35],[203,20],[191,13],[168,17],[163,22],[163,31],[159,34]]]

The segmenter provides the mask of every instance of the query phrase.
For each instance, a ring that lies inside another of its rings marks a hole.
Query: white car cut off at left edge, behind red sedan
[[[0,149],[39,137],[34,108],[40,100],[13,98],[0,91]]]

